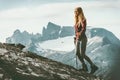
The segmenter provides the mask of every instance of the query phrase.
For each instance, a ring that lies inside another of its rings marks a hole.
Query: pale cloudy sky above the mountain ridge
[[[48,22],[74,25],[74,9],[81,6],[87,26],[102,27],[120,39],[120,0],[0,0],[0,42],[16,29],[41,33]]]

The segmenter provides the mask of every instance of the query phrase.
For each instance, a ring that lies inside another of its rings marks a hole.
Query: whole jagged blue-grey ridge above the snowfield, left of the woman
[[[20,30],[16,30],[11,37],[6,38],[6,42],[29,45],[30,43],[52,40],[59,37],[66,37],[72,35],[74,35],[73,27],[62,27],[52,22],[49,22],[47,27],[43,27],[42,34],[30,34],[27,31],[21,32]]]

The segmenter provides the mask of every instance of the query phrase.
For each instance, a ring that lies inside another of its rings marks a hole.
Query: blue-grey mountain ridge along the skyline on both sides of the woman
[[[67,36],[74,35],[74,27],[72,26],[59,26],[52,22],[49,22],[47,27],[43,27],[42,34],[30,34],[27,31],[20,32],[20,30],[14,31],[11,37],[6,38],[7,43],[21,43],[23,45],[29,45],[30,43],[36,43],[40,41],[53,40],[57,38],[63,38]],[[88,38],[92,38],[95,36],[104,37],[110,42],[114,42],[116,45],[120,45],[119,39],[114,36],[114,34],[110,31],[107,31],[103,28],[93,28],[87,29],[86,35]],[[112,36],[112,37],[110,37]],[[104,39],[104,40],[106,40]]]

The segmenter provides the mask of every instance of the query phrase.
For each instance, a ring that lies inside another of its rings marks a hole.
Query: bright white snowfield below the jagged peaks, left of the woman
[[[73,36],[44,41],[39,46],[56,51],[71,51],[74,49]]]

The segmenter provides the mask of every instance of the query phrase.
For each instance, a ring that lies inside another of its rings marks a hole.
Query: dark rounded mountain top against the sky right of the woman
[[[109,43],[120,46],[120,40],[112,32],[104,28],[92,28],[87,34],[90,36],[90,38],[99,36],[102,37],[105,42],[108,40]]]

